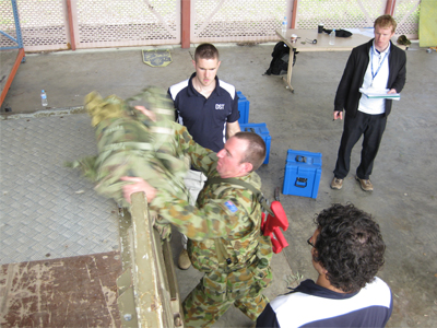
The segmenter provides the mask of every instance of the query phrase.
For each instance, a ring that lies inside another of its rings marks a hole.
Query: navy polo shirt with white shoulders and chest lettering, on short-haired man
[[[192,85],[192,79],[172,85],[168,93],[175,103],[178,122],[187,127],[192,139],[214,152],[226,142],[226,122],[239,118],[238,96],[235,86],[215,77],[215,89],[205,98]]]

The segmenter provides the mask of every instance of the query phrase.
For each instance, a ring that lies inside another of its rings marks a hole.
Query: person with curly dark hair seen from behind
[[[315,223],[307,243],[316,282],[305,280],[269,303],[257,327],[385,327],[393,301],[376,277],[386,250],[378,223],[352,203],[322,210]]]

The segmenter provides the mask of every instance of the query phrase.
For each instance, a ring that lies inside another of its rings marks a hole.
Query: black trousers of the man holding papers
[[[334,176],[343,179],[347,176],[351,166],[351,152],[362,134],[362,161],[356,168],[361,179],[368,179],[374,167],[374,161],[386,130],[387,116],[369,115],[358,110],[355,117],[347,115],[344,118],[343,134],[340,142]]]

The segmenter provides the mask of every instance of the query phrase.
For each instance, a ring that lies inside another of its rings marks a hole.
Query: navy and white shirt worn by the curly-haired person
[[[392,309],[390,288],[377,277],[351,294],[335,293],[308,279],[269,303],[257,328],[385,327]]]

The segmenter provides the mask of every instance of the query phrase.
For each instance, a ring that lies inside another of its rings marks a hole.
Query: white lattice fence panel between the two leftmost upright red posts
[[[71,11],[78,48],[180,43],[178,0],[78,0]]]

